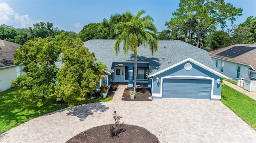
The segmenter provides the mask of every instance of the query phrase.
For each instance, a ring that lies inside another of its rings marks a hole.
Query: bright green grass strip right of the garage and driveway
[[[256,100],[229,86],[222,86],[220,101],[256,130]]]

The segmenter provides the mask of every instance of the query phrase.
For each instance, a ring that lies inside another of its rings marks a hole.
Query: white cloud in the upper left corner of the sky
[[[28,14],[20,16],[15,13],[10,6],[4,2],[0,4],[0,21],[1,24],[12,25],[17,28],[32,27],[33,24],[42,22],[42,20],[32,20]]]

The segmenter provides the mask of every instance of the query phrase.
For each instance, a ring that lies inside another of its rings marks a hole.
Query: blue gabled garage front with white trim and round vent
[[[220,100],[227,76],[188,58],[150,75],[152,98]]]

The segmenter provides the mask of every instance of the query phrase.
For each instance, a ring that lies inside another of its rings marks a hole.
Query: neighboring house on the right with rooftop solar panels
[[[236,44],[209,52],[218,70],[232,78],[256,78],[256,43]]]

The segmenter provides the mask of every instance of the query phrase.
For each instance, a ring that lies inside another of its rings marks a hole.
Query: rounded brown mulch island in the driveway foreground
[[[69,139],[66,143],[159,143],[157,137],[143,127],[123,124],[116,137],[110,134],[109,125],[93,127]]]

